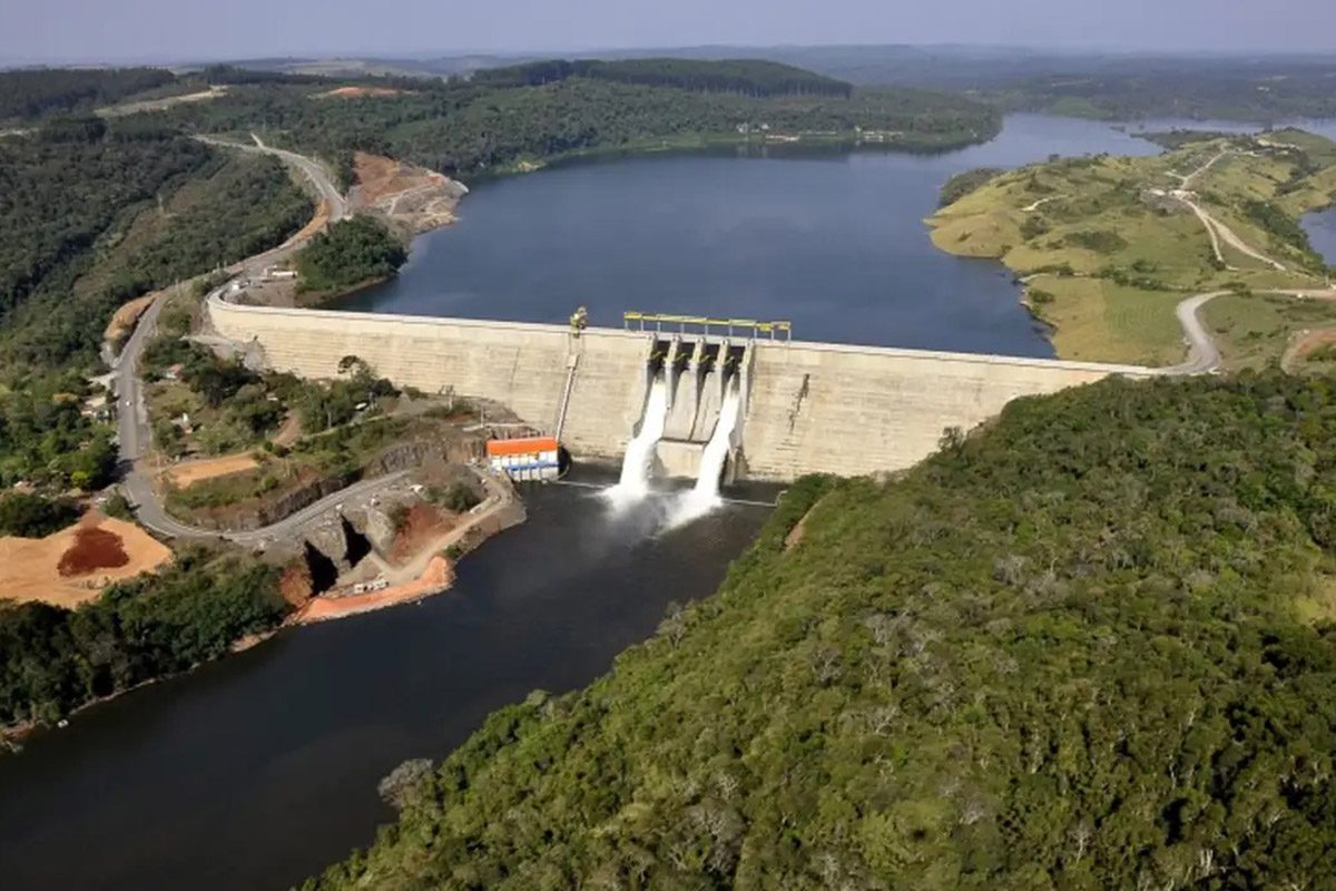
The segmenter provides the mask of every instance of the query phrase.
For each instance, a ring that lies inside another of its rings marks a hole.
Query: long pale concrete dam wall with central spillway
[[[729,387],[736,413],[727,473],[788,481],[806,473],[900,470],[946,427],[969,430],[1022,395],[1153,369],[965,353],[770,341],[335,310],[235,305],[218,295],[215,333],[267,367],[334,378],[357,355],[398,386],[509,406],[577,460],[616,462],[665,389],[657,476],[695,477]]]

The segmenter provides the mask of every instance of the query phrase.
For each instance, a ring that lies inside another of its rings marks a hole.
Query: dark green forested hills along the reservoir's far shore
[[[473,178],[589,151],[739,140],[743,124],[835,142],[874,130],[894,134],[887,144],[906,150],[970,144],[1001,126],[979,102],[921,90],[766,98],[572,76],[522,87],[424,81],[395,96],[321,98],[330,85],[242,85],[159,116],[199,132],[246,132],[263,122],[271,140],[335,160],[345,178],[355,150]]]

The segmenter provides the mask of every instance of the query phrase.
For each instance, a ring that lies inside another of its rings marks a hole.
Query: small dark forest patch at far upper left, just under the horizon
[[[33,68],[0,71],[0,123],[99,106],[178,84],[166,68]]]

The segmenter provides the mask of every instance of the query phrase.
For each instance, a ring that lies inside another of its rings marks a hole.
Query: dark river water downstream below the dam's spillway
[[[367,844],[375,784],[532,689],[568,691],[715,590],[766,509],[669,536],[597,492],[533,486],[529,522],[453,590],[289,631],[79,715],[0,757],[4,888],[279,888]],[[72,856],[77,852],[77,856]]]

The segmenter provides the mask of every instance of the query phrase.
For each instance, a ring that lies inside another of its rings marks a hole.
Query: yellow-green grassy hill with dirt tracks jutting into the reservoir
[[[1173,198],[1182,188],[1285,271],[1228,242],[1221,263],[1204,223]],[[1297,220],[1332,202],[1336,143],[1280,131],[1189,142],[1156,158],[1033,164],[987,180],[930,222],[942,250],[998,258],[1026,278],[1059,355],[1168,365],[1182,358],[1173,311],[1185,295],[1320,289],[1325,270]],[[1264,353],[1279,357],[1287,333],[1269,333]]]

